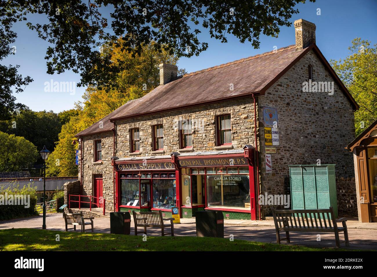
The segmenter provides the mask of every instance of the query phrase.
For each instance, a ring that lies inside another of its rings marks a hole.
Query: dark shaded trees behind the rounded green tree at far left
[[[15,113],[11,119],[0,121],[0,131],[23,136],[38,150],[41,150],[44,145],[48,150],[54,150],[60,130],[60,118],[52,111],[34,112],[24,109]]]

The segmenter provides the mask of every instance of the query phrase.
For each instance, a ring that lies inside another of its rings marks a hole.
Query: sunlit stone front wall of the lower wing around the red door
[[[101,139],[102,144],[102,161],[100,162],[94,161],[94,141],[97,139]],[[113,166],[111,165],[113,132],[84,136],[82,143],[84,151],[83,195],[93,195],[94,175],[102,174],[103,198],[105,199],[106,210],[112,211],[114,207]],[[89,198],[87,201],[89,201]]]

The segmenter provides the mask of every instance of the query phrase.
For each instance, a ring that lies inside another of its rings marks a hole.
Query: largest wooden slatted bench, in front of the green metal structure
[[[322,214],[322,219],[320,217]],[[276,241],[290,242],[289,232],[317,232],[334,233],[336,246],[340,248],[339,233],[344,233],[344,241],[349,246],[346,218],[335,219],[333,207],[319,210],[272,210],[276,229]],[[330,219],[331,215],[331,219]],[[343,227],[338,227],[337,222],[342,222]],[[285,232],[285,237],[280,238],[280,231]]]

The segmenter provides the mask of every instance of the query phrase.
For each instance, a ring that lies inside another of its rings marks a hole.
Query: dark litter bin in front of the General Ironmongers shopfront
[[[224,216],[221,211],[197,211],[197,237],[224,237]]]

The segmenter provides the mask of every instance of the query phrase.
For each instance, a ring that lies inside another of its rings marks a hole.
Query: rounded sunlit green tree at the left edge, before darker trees
[[[39,156],[37,147],[21,136],[0,132],[0,171],[30,168]]]

